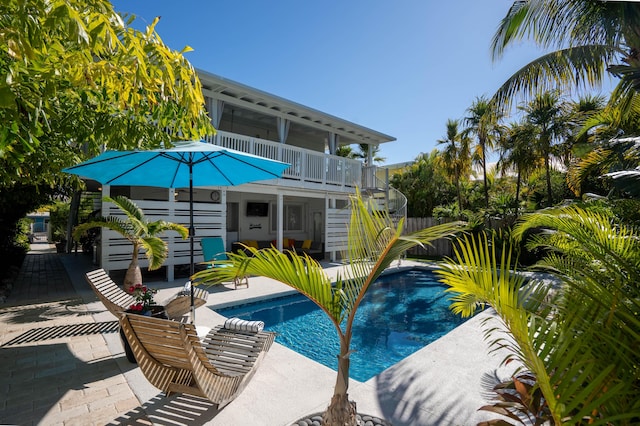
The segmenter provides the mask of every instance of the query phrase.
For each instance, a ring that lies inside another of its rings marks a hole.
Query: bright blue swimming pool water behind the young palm
[[[364,382],[464,322],[449,310],[435,275],[412,269],[380,277],[360,305],[351,341],[352,379]],[[276,341],[337,370],[338,334],[313,302],[296,294],[217,310],[226,317],[264,321]]]

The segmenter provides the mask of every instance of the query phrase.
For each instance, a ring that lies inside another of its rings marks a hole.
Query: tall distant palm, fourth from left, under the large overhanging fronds
[[[535,146],[540,158],[544,160],[547,181],[547,206],[553,205],[551,188],[551,157],[554,145],[563,140],[568,130],[566,104],[557,92],[537,94],[529,103],[519,107],[524,120],[536,128]]]

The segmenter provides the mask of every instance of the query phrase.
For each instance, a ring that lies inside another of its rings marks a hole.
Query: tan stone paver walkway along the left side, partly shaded
[[[0,424],[151,424],[105,343],[117,322],[94,320],[60,256],[31,251],[0,305]]]

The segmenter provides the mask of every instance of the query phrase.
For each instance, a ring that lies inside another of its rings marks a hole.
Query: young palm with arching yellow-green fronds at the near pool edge
[[[275,248],[247,247],[249,256],[244,252],[228,253],[226,264],[230,266],[207,269],[193,276],[196,284],[207,285],[246,274],[269,277],[295,288],[324,311],[338,333],[340,353],[334,393],[323,414],[323,425],[356,425],[355,404],[348,395],[351,336],[354,317],[367,290],[409,248],[451,236],[461,229],[460,223],[452,222],[402,235],[403,222],[394,225],[387,213],[369,208],[359,193],[353,196],[346,267],[335,282],[309,256],[292,251],[283,253]]]

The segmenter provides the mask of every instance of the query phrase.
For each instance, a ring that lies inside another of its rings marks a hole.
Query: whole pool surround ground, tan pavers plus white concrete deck
[[[288,425],[328,405],[336,373],[277,343],[247,388],[220,411],[199,398],[164,397],[126,360],[113,328],[115,317],[84,281],[83,274],[94,268],[85,258],[60,256],[74,297],[0,306],[0,362],[5,369],[0,376],[5,397],[0,423],[271,426]],[[402,262],[402,267],[409,265]],[[341,268],[325,266],[330,276]],[[252,277],[249,282],[249,288],[237,290],[232,285],[210,287],[207,305],[196,311],[196,324],[211,327],[221,323],[224,317],[214,311],[216,307],[291,292],[284,284],[266,278]],[[163,300],[184,280],[147,284],[158,288],[156,300]],[[30,316],[25,315],[25,309]],[[22,315],[20,320],[17,315]],[[498,368],[502,356],[489,355],[482,338],[480,323],[489,315],[472,318],[364,383],[352,380],[349,396],[356,401],[358,412],[384,418],[395,426],[475,425],[496,418],[477,411],[489,401],[489,378],[497,375],[504,379],[510,373]],[[95,327],[96,331],[51,335],[52,329],[75,330],[78,325]],[[28,333],[34,328],[46,329],[47,336],[25,337],[32,336]],[[68,359],[42,371],[42,361],[32,362],[26,356],[38,356],[39,351],[46,351],[49,358]],[[63,385],[67,380],[70,383]]]

